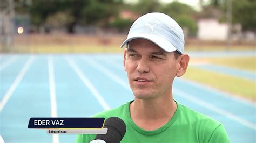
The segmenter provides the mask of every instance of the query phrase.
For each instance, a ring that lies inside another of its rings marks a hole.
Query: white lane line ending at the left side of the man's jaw
[[[97,68],[99,71],[101,71],[103,74],[109,76],[112,80],[116,81],[117,83],[119,83],[120,85],[122,85],[122,87],[126,88],[126,89],[130,89],[130,86],[127,82],[125,82],[122,78],[114,75],[113,73],[111,73],[109,71],[109,69],[105,68],[104,66],[100,65],[99,63],[95,62],[94,60],[91,59],[85,59],[83,58],[83,60],[87,63],[89,63],[91,66]]]

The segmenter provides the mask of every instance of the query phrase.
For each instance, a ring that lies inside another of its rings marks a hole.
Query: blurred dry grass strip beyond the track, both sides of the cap
[[[120,53],[119,48],[126,35],[16,35],[12,52],[21,53]],[[255,50],[255,45],[232,45],[225,43],[207,44],[195,40],[185,42],[185,51],[248,51]]]

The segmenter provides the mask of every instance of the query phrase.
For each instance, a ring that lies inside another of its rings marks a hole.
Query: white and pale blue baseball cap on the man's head
[[[139,17],[132,24],[121,47],[137,38],[150,40],[166,52],[177,50],[181,54],[184,53],[183,31],[175,20],[164,13],[152,12]]]

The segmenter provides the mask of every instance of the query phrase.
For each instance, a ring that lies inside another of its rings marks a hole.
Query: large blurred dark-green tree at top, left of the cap
[[[45,24],[64,24],[68,33],[74,33],[77,24],[107,27],[109,19],[118,15],[119,4],[122,4],[122,0],[32,1],[31,23],[36,25],[37,31]],[[57,22],[55,18],[60,21]]]

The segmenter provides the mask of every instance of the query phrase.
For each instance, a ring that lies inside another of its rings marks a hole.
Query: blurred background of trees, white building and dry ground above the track
[[[147,12],[176,20],[187,51],[256,45],[252,0],[1,0],[0,5],[2,53],[120,52],[116,47],[133,21]]]

